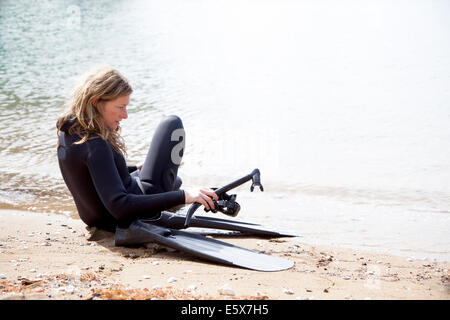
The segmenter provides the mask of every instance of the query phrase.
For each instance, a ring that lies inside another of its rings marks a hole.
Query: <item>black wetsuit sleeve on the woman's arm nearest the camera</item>
[[[183,190],[151,195],[127,193],[112,150],[105,141],[99,139],[91,145],[86,162],[103,205],[119,222],[137,216],[154,215],[155,210],[162,211],[184,203]]]

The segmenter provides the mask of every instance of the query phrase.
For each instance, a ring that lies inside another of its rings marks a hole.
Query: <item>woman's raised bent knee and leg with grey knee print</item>
[[[177,116],[164,118],[156,128],[139,179],[145,193],[161,193],[178,189],[178,167],[183,157],[185,132]]]

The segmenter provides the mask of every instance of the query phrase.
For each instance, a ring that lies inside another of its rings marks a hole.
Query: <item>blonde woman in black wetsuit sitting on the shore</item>
[[[166,117],[156,129],[142,166],[127,166],[120,121],[133,92],[117,70],[101,68],[75,88],[57,122],[58,162],[80,218],[88,226],[115,230],[137,217],[155,217],[181,204],[214,209],[212,189],[180,190],[183,124]]]

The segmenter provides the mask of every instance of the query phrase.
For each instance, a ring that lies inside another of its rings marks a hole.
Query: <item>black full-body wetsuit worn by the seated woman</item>
[[[60,131],[58,162],[80,218],[88,226],[114,230],[118,224],[184,204],[184,191],[177,190],[185,143],[178,117],[166,117],[159,124],[140,171],[127,166],[124,157],[98,136],[74,144],[80,137],[68,133],[70,125]]]

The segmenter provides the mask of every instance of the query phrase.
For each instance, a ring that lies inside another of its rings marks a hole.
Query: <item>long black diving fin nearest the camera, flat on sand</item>
[[[258,271],[280,271],[294,265],[287,259],[272,257],[187,231],[156,226],[142,219],[134,220],[128,228],[116,228],[116,246],[135,246],[149,242],[210,261]]]

